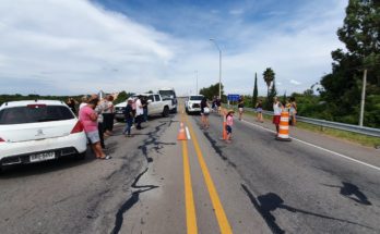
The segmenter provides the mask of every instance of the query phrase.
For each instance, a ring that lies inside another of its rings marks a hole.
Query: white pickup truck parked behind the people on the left
[[[133,95],[131,98],[136,98],[139,95]],[[170,109],[173,109],[171,100],[163,100],[161,95],[156,94],[141,94],[147,98],[147,114],[152,115],[163,115],[168,116]],[[127,100],[124,102],[115,106],[115,119],[117,121],[124,120],[124,110],[127,107]]]

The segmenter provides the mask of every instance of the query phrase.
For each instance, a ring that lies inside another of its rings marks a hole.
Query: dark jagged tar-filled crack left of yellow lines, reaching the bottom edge
[[[156,185],[141,185],[138,186],[138,182],[140,178],[147,172],[149,168],[146,168],[143,172],[141,172],[132,183],[132,188],[145,188],[145,189],[139,189],[132,193],[132,196],[119,208],[118,212],[116,213],[116,221],[115,221],[115,227],[111,231],[111,234],[118,234],[121,230],[122,223],[123,223],[123,214],[131,209],[136,202],[140,200],[140,194],[155,189],[159,186]]]

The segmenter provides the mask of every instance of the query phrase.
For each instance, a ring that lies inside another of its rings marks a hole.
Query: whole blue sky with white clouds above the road
[[[280,95],[302,93],[331,72],[331,51],[344,49],[336,30],[346,7],[347,0],[2,0],[0,94],[195,94],[218,83],[219,50],[225,94],[251,95],[257,74],[259,95],[266,95],[266,67]]]

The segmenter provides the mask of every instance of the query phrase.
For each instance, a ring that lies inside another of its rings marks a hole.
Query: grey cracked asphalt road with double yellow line
[[[180,122],[191,139],[177,140]],[[380,152],[270,123],[155,118],[106,140],[111,160],[62,159],[0,175],[1,233],[380,233]]]

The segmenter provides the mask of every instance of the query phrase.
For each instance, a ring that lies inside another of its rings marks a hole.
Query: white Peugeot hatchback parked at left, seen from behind
[[[11,101],[0,107],[0,170],[72,155],[84,158],[86,140],[81,122],[64,102]]]

